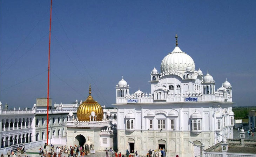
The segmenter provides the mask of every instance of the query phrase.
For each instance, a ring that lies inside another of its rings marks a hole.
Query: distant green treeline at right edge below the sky
[[[235,119],[247,119],[248,113],[251,110],[256,110],[256,107],[255,106],[235,106],[235,107],[233,107]]]

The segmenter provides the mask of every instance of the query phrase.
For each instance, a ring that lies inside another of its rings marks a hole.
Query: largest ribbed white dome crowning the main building
[[[176,46],[173,52],[169,53],[163,58],[161,63],[161,72],[167,71],[186,71],[187,67],[191,67],[191,70],[195,70],[194,60],[185,52]]]

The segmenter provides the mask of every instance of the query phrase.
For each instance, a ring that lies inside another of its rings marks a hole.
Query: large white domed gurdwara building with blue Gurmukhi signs
[[[164,148],[167,156],[198,156],[233,138],[232,88],[226,80],[215,89],[207,72],[195,69],[194,60],[176,47],[150,74],[151,91],[132,94],[122,78],[116,84],[118,150],[147,154]],[[194,143],[194,144],[192,144]],[[197,146],[198,147],[197,147]]]

